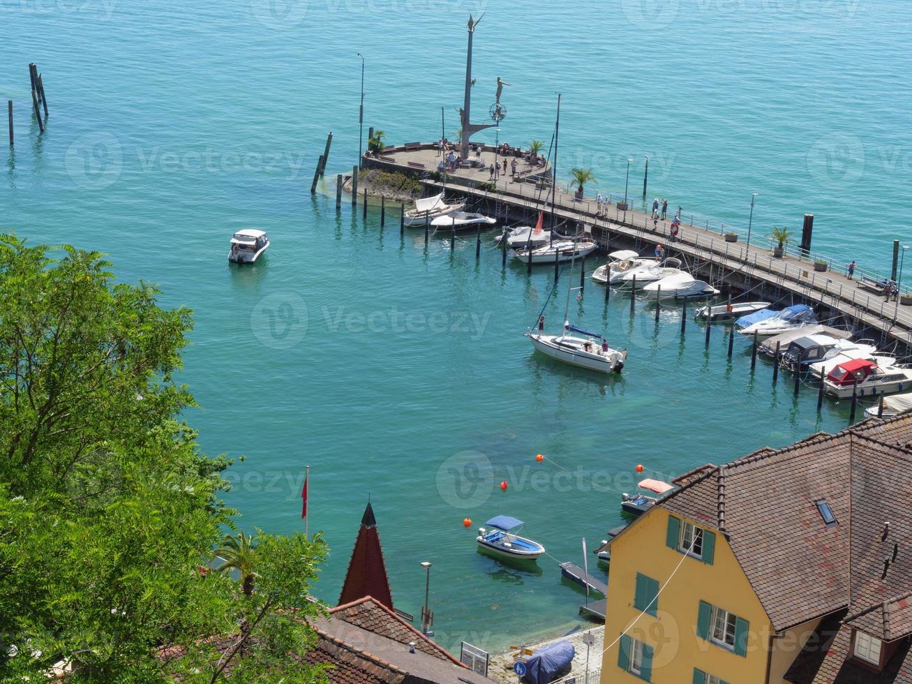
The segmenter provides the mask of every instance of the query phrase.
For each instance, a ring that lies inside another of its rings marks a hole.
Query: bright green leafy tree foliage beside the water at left
[[[0,237],[0,680],[320,679],[292,654],[325,544],[257,532],[249,593],[205,572],[235,523],[230,461],[181,420],[191,314],[109,269]]]

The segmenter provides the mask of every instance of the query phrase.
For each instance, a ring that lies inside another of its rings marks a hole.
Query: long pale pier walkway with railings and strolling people
[[[495,150],[485,146],[482,157],[486,163],[493,163]],[[507,161],[506,173],[503,172],[504,159]],[[545,212],[547,226],[551,224],[553,211],[555,222],[567,226],[565,232],[572,232],[578,226],[590,227],[596,241],[609,250],[633,246],[651,254],[652,248],[661,244],[666,255],[683,256],[693,270],[708,274],[713,282],[724,282],[744,291],[756,288],[759,290],[757,298],[775,296],[791,300],[790,303],[819,306],[828,309],[834,318],[844,318],[847,324],[876,332],[885,343],[888,339],[897,340],[912,347],[912,297],[907,298],[907,305],[887,301],[885,295],[863,283],[860,271],[855,272],[855,279],[848,278],[845,265],[851,261],[851,254],[843,257],[845,264],[791,247],[782,257],[777,257],[770,239],[758,237],[760,230],[754,231],[748,245],[744,243],[741,231],[730,227],[720,232],[710,230],[708,226],[694,225],[686,212],[680,217],[678,235],[673,236],[671,218],[674,212],[670,205],[668,218],[654,222],[646,212],[622,211],[616,204],[603,206],[599,213],[595,199],[580,200],[558,189],[554,192],[552,210],[551,182],[543,178],[547,168],[543,170],[529,164],[522,157],[503,157],[498,153],[500,173],[492,179],[490,165],[441,174],[438,172],[441,160],[436,144],[410,143],[388,147],[378,156],[365,157],[364,166],[418,174],[435,192],[443,190],[448,195],[459,196],[480,211],[505,222],[534,223],[538,213]],[[514,160],[517,170],[511,175]],[[737,242],[726,240],[724,233],[730,231],[738,233]],[[825,271],[815,270],[824,263]]]

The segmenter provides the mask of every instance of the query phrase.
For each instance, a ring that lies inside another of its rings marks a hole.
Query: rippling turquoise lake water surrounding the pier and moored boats
[[[0,0],[0,99],[16,102],[0,226],[108,253],[123,279],[192,307],[183,379],[201,409],[188,420],[204,451],[245,455],[227,496],[242,524],[300,529],[309,464],[311,530],[332,549],[317,592],[334,603],[369,493],[396,606],[420,613],[431,561],[434,627],[457,651],[580,622],[584,596],[553,559],[530,571],[476,553],[488,517],[520,517],[554,558],[581,563],[582,538],[592,548],[619,523],[637,463],[670,477],[848,420],[848,402],[818,416],[812,390],[793,399],[789,376],[772,388],[766,362],[751,379],[742,340],[730,364],[722,328],[707,353],[693,322],[680,341],[679,312],[657,326],[642,303],[606,309],[591,283],[571,316],[628,347],[627,368],[605,381],[556,366],[521,335],[550,268],[502,270],[490,234],[476,264],[472,240],[425,249],[398,223],[381,233],[378,210],[337,214],[329,178],[358,154],[356,53],[365,133],[431,140],[443,107],[452,137],[470,12],[487,13],[474,119],[501,76],[500,140],[547,141],[561,91],[559,168],[593,167],[593,190],[623,193],[631,157],[638,195],[649,155],[650,198],[685,215],[743,225],[758,192],[754,231],[813,212],[815,249],[880,270],[908,235],[908,3]],[[30,61],[51,110],[41,137]],[[227,240],[245,226],[273,246],[239,269]]]

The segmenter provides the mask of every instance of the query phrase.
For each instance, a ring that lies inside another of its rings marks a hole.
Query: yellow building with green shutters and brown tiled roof
[[[912,417],[674,483],[608,543],[603,684],[912,681]]]

